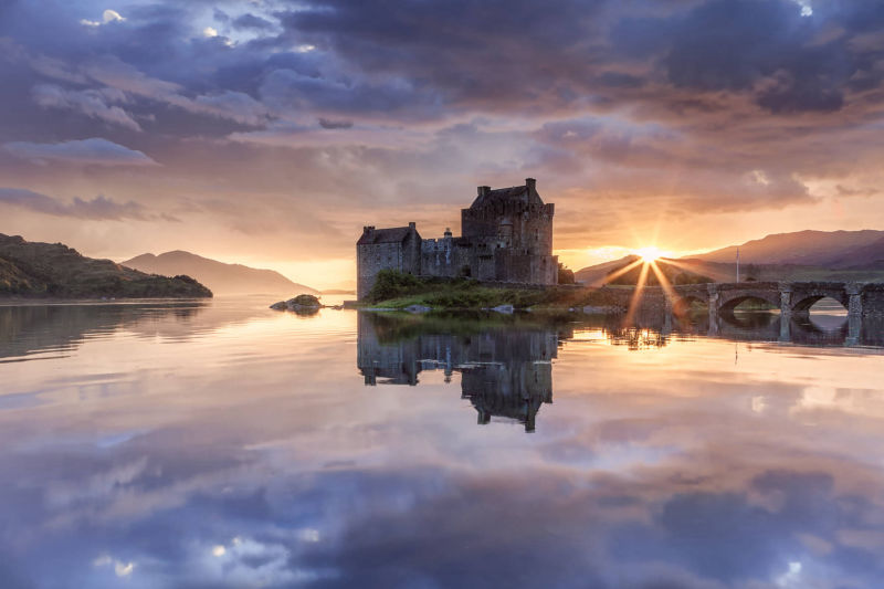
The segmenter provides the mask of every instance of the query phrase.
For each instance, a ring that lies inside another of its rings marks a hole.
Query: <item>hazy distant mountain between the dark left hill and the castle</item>
[[[215,294],[319,294],[315,288],[292,282],[273,270],[225,264],[180,250],[160,255],[146,253],[120,263],[151,274],[187,274],[209,286]]]

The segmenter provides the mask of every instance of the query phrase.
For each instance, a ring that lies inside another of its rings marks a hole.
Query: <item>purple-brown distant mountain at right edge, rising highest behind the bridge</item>
[[[799,231],[777,233],[704,254],[706,262],[734,262],[739,248],[741,263],[798,264],[846,269],[884,259],[884,231]]]

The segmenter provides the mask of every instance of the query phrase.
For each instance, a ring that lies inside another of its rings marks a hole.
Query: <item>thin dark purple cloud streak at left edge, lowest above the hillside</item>
[[[53,217],[72,217],[92,221],[123,219],[145,220],[150,218],[140,204],[134,201],[115,202],[104,196],[92,200],[74,198],[70,203],[24,188],[0,188],[0,204],[8,204]]]

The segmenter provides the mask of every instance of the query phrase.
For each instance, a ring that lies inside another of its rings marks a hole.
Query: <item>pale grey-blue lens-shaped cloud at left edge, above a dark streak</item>
[[[3,147],[17,157],[41,165],[48,161],[61,161],[94,166],[157,166],[156,161],[141,151],[101,137],[57,144],[12,141],[4,144]]]

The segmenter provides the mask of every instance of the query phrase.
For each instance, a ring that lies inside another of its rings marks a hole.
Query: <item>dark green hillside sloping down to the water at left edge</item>
[[[197,298],[212,293],[190,276],[151,276],[110,260],[85,257],[62,243],[0,234],[0,296]]]

